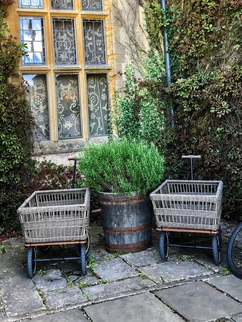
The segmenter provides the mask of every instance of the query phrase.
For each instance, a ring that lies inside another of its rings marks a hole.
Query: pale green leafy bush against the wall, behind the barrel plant
[[[165,79],[163,59],[151,50],[142,60],[142,80],[136,79],[132,64],[126,66],[125,93],[115,95],[112,122],[119,138],[143,139],[159,146],[166,113],[159,91]]]

